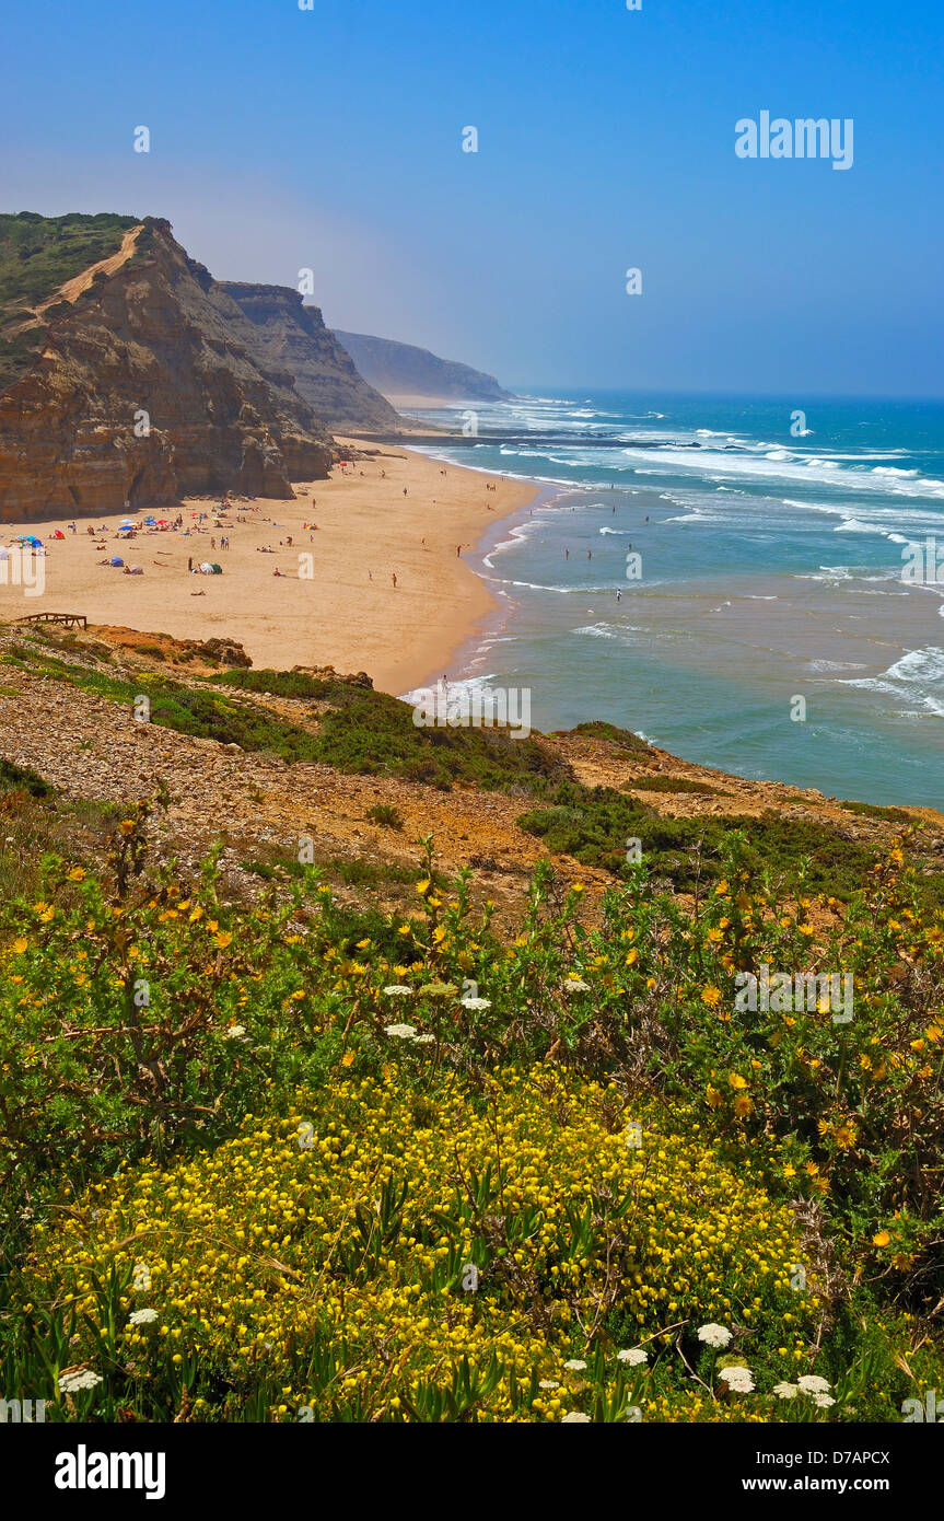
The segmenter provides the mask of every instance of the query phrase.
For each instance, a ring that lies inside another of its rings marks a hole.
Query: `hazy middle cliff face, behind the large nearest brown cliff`
[[[357,373],[354,360],[324,325],[316,306],[304,306],[289,286],[216,286],[252,324],[257,348],[268,364],[295,377],[295,389],[328,427],[397,432],[401,417]]]

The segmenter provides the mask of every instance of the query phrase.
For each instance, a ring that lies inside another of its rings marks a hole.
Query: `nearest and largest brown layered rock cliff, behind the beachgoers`
[[[0,520],[324,478],[327,429],[169,224],[147,219],[128,252],[35,318],[43,351],[0,391]]]

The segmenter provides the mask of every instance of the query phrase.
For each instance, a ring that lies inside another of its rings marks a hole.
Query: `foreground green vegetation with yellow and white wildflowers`
[[[543,862],[506,932],[429,838],[409,911],[310,867],[234,903],[219,852],[155,859],[150,805],[30,783],[0,1357],[47,1421],[857,1422],[941,1387],[944,916],[906,838],[845,900],[754,830],[591,916]],[[739,1007],[763,966],[850,975],[854,1019]]]

